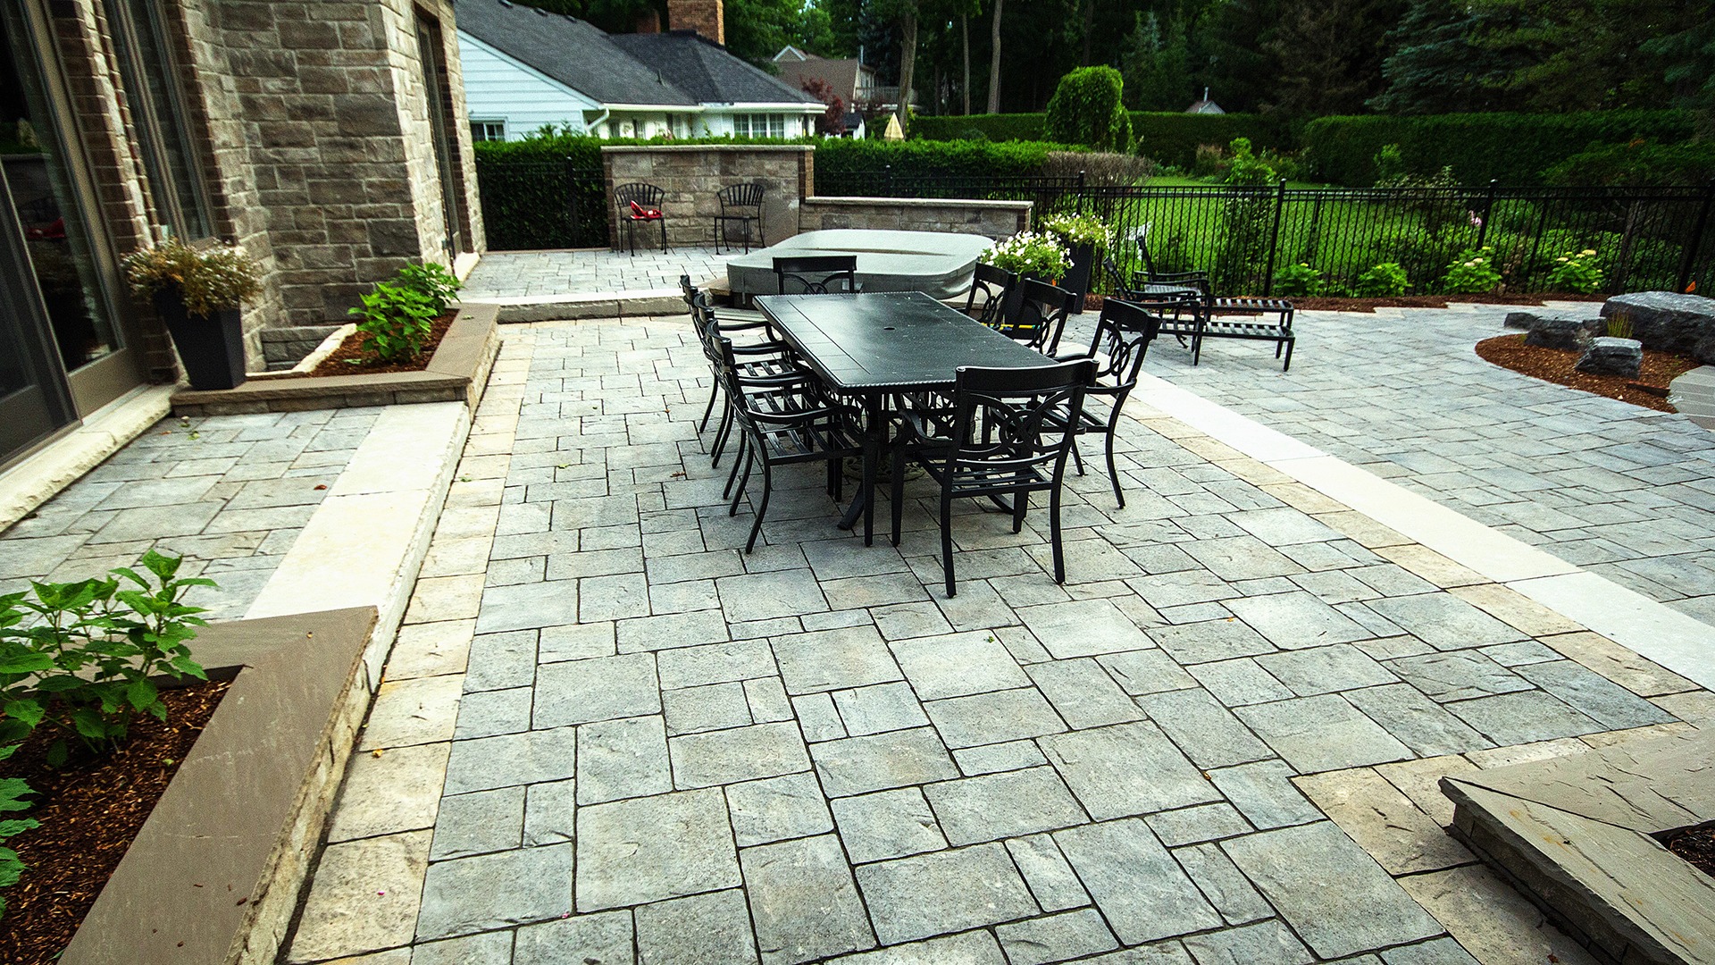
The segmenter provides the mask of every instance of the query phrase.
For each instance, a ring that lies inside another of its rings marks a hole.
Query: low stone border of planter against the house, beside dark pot
[[[458,306],[458,318],[441,338],[429,364],[417,373],[256,378],[220,391],[184,390],[173,393],[173,414],[244,416],[458,400],[475,409],[494,357],[501,350],[497,314],[497,306]]]

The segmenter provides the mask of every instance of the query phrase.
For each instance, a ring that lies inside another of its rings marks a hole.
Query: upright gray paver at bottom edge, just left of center
[[[744,886],[765,963],[875,946],[852,872],[833,835],[744,848]]]

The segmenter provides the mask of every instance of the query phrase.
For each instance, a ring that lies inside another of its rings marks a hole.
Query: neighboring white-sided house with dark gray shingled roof
[[[609,34],[508,0],[458,0],[472,136],[518,141],[544,125],[599,137],[815,134],[825,105],[727,53],[719,2],[712,17],[700,26],[715,39]]]

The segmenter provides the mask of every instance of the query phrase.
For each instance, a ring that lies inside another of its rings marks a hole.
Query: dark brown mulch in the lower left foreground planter
[[[96,756],[72,742],[72,759],[48,769],[45,754],[57,737],[43,726],[7,761],[0,776],[34,788],[31,809],[5,817],[34,817],[41,828],[9,841],[27,865],[5,889],[0,962],[38,965],[58,958],[89,913],[101,886],[130,848],[154,802],[166,793],[178,764],[226,694],[228,680],[163,690],[166,721],[142,716],[130,738]]]

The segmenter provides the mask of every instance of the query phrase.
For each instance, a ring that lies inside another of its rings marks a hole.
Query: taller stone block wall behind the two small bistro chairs
[[[607,197],[614,187],[635,180],[665,191],[669,246],[713,244],[713,216],[720,211],[715,192],[729,184],[761,182],[763,232],[768,244],[799,232],[799,206],[815,194],[809,144],[636,144],[602,148]],[[607,206],[609,237],[624,244],[619,209]],[[659,232],[647,225],[645,232]],[[638,247],[647,234],[640,232]],[[653,235],[660,244],[660,235]]]

